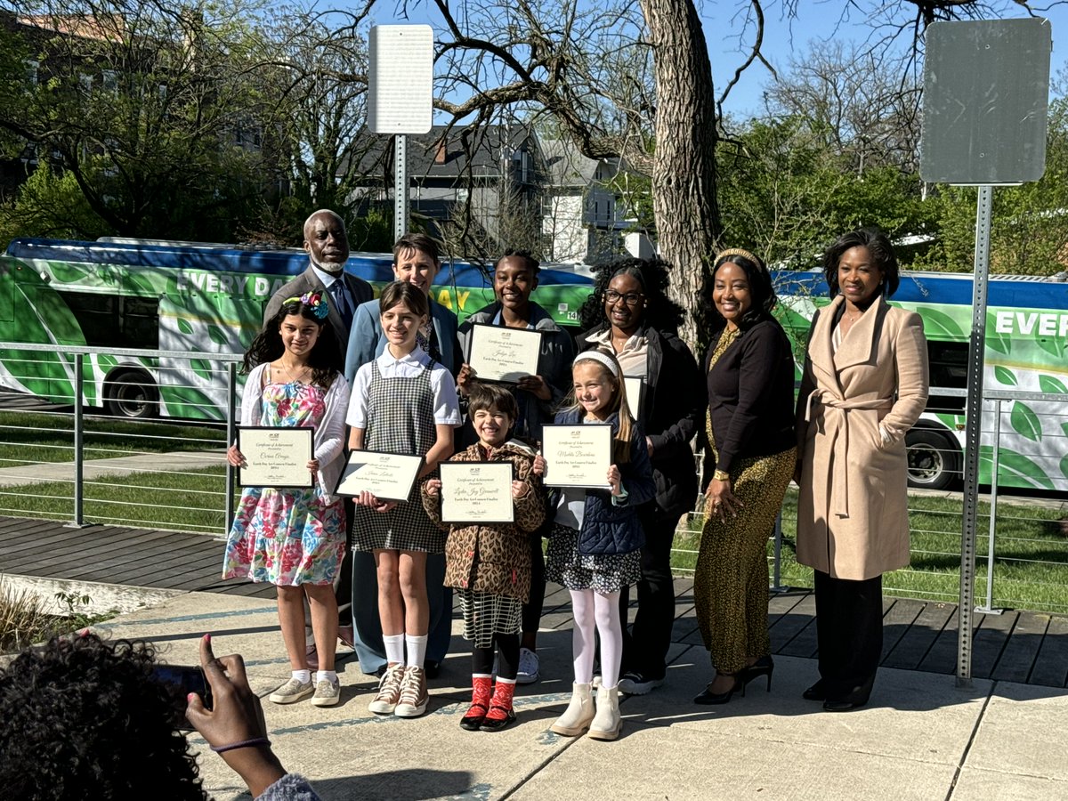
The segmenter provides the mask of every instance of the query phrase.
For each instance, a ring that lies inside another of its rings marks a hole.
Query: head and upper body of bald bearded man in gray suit
[[[286,299],[300,297],[307,292],[325,292],[330,302],[327,321],[333,328],[341,346],[342,361],[335,366],[339,372],[344,372],[352,316],[357,307],[374,298],[375,294],[366,281],[345,272],[345,262],[348,261],[345,222],[330,209],[320,208],[304,221],[304,250],[308,251],[310,262],[308,269],[282,286],[267,301],[264,323],[278,314]]]

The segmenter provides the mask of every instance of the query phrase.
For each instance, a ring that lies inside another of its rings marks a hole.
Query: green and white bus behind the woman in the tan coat
[[[799,344],[800,364],[800,343],[812,316],[830,302],[827,283],[818,271],[780,271],[775,283],[783,301],[780,318]],[[908,271],[890,301],[923,317],[928,343],[930,399],[906,436],[913,487],[944,489],[961,475],[972,289],[971,274]],[[998,485],[1068,491],[1068,283],[1061,277],[994,276],[987,297],[984,393],[1020,395],[1002,404]],[[1064,399],[1034,400],[1025,393]],[[979,451],[983,484],[991,480],[994,429],[994,407],[987,400]]]

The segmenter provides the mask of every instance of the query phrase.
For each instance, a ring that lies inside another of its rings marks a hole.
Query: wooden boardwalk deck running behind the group
[[[188,592],[272,598],[270,585],[222,581],[222,540],[203,534],[0,517],[0,574],[95,581]],[[677,579],[673,639],[701,645],[693,582]],[[632,596],[633,597],[633,596]],[[455,613],[459,613],[458,607]],[[567,625],[567,593],[546,595],[543,625]],[[972,675],[1001,681],[1068,686],[1068,617],[1008,611],[975,614]],[[886,598],[882,664],[952,674],[957,670],[957,607]],[[768,608],[775,654],[816,656],[815,601],[806,590],[773,594]]]

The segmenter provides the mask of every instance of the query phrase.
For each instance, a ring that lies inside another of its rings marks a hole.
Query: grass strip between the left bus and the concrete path
[[[131,422],[87,418],[84,458],[108,459],[137,453],[207,451],[225,443],[226,429],[210,424]],[[0,467],[37,461],[74,461],[70,412],[0,411]]]

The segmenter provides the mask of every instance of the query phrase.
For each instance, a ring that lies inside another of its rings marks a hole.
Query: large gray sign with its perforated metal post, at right
[[[1046,171],[1053,40],[1049,20],[1031,18],[936,22],[926,44],[921,175],[928,183],[979,187],[957,611],[957,685],[970,687],[993,186],[1038,180]],[[996,484],[996,473],[991,482]]]

